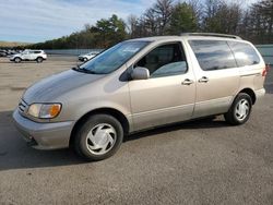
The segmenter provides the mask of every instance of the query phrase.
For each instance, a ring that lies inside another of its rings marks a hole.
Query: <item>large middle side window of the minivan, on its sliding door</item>
[[[189,44],[204,71],[237,67],[234,55],[224,40],[190,40]]]

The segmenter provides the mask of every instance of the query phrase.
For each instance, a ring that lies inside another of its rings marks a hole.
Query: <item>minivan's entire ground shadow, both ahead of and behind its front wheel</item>
[[[224,121],[204,119],[158,128],[127,136],[124,142],[183,129],[227,126]],[[0,112],[0,171],[84,164],[73,150],[36,150],[28,147],[12,123],[12,111]]]

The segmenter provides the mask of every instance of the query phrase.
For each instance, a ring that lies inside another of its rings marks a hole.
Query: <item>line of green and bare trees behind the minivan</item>
[[[130,15],[124,21],[114,14],[95,25],[86,24],[81,32],[31,48],[107,48],[128,38],[189,32],[234,34],[254,44],[273,44],[273,0],[246,7],[244,0],[157,0],[141,16]]]

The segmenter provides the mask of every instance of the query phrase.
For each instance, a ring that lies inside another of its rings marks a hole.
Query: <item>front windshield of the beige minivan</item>
[[[119,69],[147,44],[147,41],[120,43],[82,64],[80,69],[92,74],[108,74]]]

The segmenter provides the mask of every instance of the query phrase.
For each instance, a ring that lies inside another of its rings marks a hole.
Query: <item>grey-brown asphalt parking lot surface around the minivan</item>
[[[75,64],[0,59],[0,204],[273,204],[273,72],[245,125],[217,117],[146,131],[85,162],[27,147],[11,119],[26,87]]]

